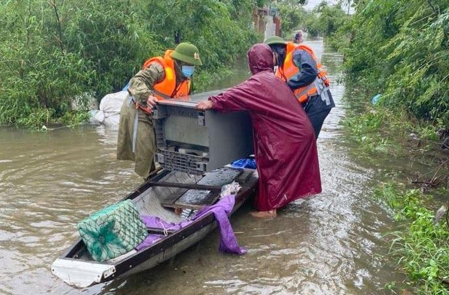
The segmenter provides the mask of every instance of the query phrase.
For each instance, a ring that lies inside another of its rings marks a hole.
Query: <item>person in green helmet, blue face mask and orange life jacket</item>
[[[160,99],[180,99],[191,93],[195,65],[202,65],[198,48],[180,43],[163,57],[148,59],[129,82],[120,110],[117,159],[134,161],[135,173],[144,179],[155,169],[152,110]]]

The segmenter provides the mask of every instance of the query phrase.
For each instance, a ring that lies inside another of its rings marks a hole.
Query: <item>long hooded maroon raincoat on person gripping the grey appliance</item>
[[[259,174],[255,207],[267,211],[321,192],[318,151],[301,104],[273,73],[270,48],[254,45],[248,63],[251,78],[209,99],[220,112],[249,112]]]

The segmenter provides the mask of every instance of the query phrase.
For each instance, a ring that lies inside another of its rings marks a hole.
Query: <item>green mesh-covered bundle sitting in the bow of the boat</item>
[[[147,236],[147,228],[130,200],[97,211],[77,228],[92,258],[99,262],[131,251]]]

